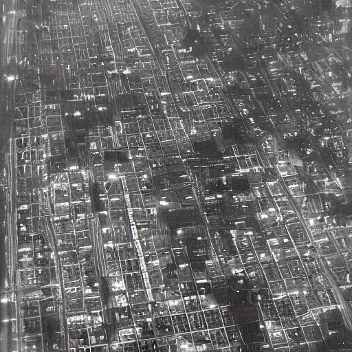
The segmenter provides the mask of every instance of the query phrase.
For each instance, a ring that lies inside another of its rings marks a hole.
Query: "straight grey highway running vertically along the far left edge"
[[[3,20],[1,21],[0,41],[0,109],[1,131],[0,131],[0,166],[1,170],[7,170],[7,184],[0,189],[1,204],[0,223],[6,224],[0,233],[0,350],[19,350],[17,342],[12,340],[12,333],[18,329],[17,319],[17,295],[15,294],[17,283],[17,212],[16,212],[16,190],[14,188],[15,165],[13,157],[12,120],[14,117],[14,90],[16,80],[8,79],[8,76],[16,76],[16,28],[19,14],[16,12],[16,0],[8,0],[0,9]],[[9,139],[10,137],[10,139]],[[8,157],[6,157],[8,154]],[[9,161],[9,164],[7,164]],[[15,335],[15,334],[14,334]],[[17,345],[17,346],[16,346]]]

